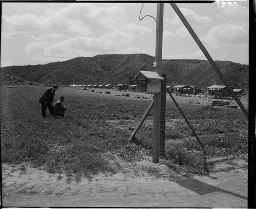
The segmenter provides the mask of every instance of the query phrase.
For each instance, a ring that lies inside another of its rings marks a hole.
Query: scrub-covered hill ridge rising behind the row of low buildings
[[[77,57],[44,65],[2,67],[1,73],[42,84],[112,84],[131,85],[138,71],[154,71],[155,57],[146,54],[113,54]],[[216,61],[226,80],[234,88],[248,90],[248,65]],[[162,73],[171,86],[190,85],[205,89],[224,85],[205,60],[163,60]]]

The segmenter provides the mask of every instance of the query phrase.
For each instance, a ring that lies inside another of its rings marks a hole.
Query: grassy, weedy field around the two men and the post
[[[63,119],[50,117],[47,110],[46,119],[42,119],[38,100],[47,87],[0,88],[3,163],[30,162],[78,181],[101,172],[118,172],[120,165],[113,163],[108,153],[129,162],[152,156],[153,111],[136,135],[138,143],[128,143],[150,99],[115,96],[121,94],[118,91],[107,95],[59,87],[54,102],[64,96],[65,106],[73,111]],[[240,109],[188,103],[195,98],[176,99],[205,146],[209,172],[214,166],[210,159],[247,153],[248,123]],[[189,175],[206,173],[202,148],[169,98],[165,135],[162,164]]]

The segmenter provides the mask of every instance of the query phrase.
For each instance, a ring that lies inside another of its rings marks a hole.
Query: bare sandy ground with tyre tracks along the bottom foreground
[[[2,206],[247,207],[247,163],[242,159],[229,159],[229,164],[220,161],[215,174],[185,178],[161,162],[153,164],[150,158],[131,164],[114,157],[121,165],[118,173],[81,178],[79,182],[69,181],[63,174],[49,174],[44,168],[3,164]],[[160,169],[162,174],[173,172],[180,180],[152,176],[146,172],[149,167]]]

